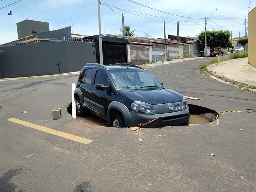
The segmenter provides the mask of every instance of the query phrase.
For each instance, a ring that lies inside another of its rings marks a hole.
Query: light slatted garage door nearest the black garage
[[[149,63],[149,47],[130,45],[132,64]]]

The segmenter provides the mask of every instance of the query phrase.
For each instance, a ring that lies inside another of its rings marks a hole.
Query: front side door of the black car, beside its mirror
[[[108,91],[97,90],[96,84],[109,86],[109,79],[105,71],[97,69],[94,84],[92,85],[92,94],[90,99],[90,108],[107,118],[108,110]]]

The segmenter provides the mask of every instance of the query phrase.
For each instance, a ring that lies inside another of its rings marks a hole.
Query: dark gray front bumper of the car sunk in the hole
[[[162,117],[164,126],[181,125],[187,124],[189,121],[189,110],[188,108],[183,111],[177,111],[172,113],[163,114],[142,114],[136,111],[131,111],[131,126],[137,126],[140,123],[147,123],[159,116]]]

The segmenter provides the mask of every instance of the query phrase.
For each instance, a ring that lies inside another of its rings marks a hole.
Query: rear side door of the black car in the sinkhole
[[[92,90],[92,77],[94,74],[93,68],[87,68],[84,70],[83,78],[80,84],[80,88],[83,95],[84,106],[90,107],[89,100],[91,98]]]

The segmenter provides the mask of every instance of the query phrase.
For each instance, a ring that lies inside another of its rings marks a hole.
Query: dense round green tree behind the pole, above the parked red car
[[[207,47],[215,48],[215,47],[222,47],[226,48],[230,46],[230,31],[229,30],[212,30],[206,31],[206,40],[207,40]],[[205,32],[202,31],[198,35],[198,39],[202,46],[205,46]]]

